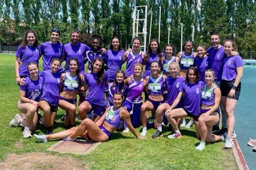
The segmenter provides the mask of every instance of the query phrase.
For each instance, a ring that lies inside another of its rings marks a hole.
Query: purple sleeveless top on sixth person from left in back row
[[[139,52],[139,54],[134,55],[132,51],[130,51],[127,62],[126,62],[126,77],[128,78],[130,75],[134,75],[134,65],[135,63],[141,63],[142,64],[142,51]]]

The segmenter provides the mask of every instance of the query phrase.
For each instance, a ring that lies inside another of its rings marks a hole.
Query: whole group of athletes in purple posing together
[[[200,139],[196,150],[203,150],[205,142],[224,141],[225,148],[233,147],[234,108],[243,73],[243,61],[233,40],[227,39],[221,46],[219,35],[213,33],[211,47],[199,45],[196,52],[194,42],[188,40],[184,51],[175,57],[173,45],[166,44],[161,52],[157,39],[151,39],[143,52],[138,37],[132,40],[132,49],[124,51],[117,36],[111,38],[108,50],[101,47],[98,35],[92,36],[92,47],[80,42],[77,30],[70,33],[67,44],[59,40],[58,28],[52,28],[50,36],[50,41],[39,46],[35,31],[28,30],[17,50],[15,75],[20,86],[20,114],[14,116],[10,126],[23,126],[23,137],[32,137],[31,131],[41,121],[46,135],[34,136],[43,142],[75,140],[77,136],[105,142],[121,126],[124,133],[131,131],[143,139],[151,111],[157,129],[153,138],[163,136],[163,124],[172,127],[173,134],[168,138],[174,139],[182,137],[179,126],[190,127],[194,123]],[[43,71],[38,69],[41,57]],[[121,70],[124,63],[125,71]],[[77,105],[82,119],[79,126],[75,126]],[[66,110],[64,126],[69,129],[53,133],[58,107]],[[190,121],[186,125],[187,116]],[[140,124],[139,135],[134,127]],[[217,135],[212,134],[215,130],[220,130]]]

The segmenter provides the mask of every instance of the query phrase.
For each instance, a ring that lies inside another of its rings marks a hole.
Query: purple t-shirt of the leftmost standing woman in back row
[[[20,65],[19,68],[20,76],[29,76],[29,71],[27,68],[29,62],[39,63],[39,52],[34,46],[19,46],[16,57],[20,57],[20,62],[22,62],[22,65]]]

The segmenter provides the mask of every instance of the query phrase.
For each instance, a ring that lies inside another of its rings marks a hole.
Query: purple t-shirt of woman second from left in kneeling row
[[[44,70],[40,72],[40,76],[44,79],[43,94],[40,100],[46,100],[49,104],[58,106],[61,71],[59,70],[56,73],[52,73],[51,70]]]

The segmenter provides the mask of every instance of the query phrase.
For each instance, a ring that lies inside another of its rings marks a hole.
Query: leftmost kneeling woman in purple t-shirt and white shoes
[[[35,131],[38,122],[38,106],[39,99],[43,91],[43,78],[38,76],[38,63],[29,62],[28,71],[30,76],[25,78],[26,84],[20,86],[20,100],[18,108],[22,112],[22,116],[17,114],[10,122],[10,126],[22,124],[25,127],[23,137],[32,137],[31,131]],[[24,113],[24,114],[23,114]],[[22,119],[22,117],[25,117]]]

